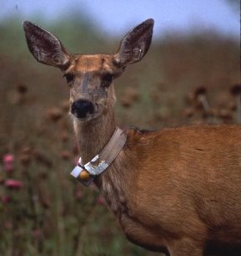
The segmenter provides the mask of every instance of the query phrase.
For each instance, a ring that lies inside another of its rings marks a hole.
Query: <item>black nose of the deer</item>
[[[76,100],[71,106],[71,113],[78,118],[85,118],[88,114],[93,114],[93,103],[89,100]]]

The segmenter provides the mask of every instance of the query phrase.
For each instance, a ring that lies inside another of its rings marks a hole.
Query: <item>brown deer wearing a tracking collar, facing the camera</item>
[[[113,80],[147,54],[153,23],[130,30],[113,54],[71,54],[38,25],[23,28],[33,57],[67,79],[81,156],[72,175],[98,187],[128,240],[169,256],[240,255],[241,126],[116,125]]]

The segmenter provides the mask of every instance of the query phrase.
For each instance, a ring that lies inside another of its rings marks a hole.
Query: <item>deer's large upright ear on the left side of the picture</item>
[[[63,44],[52,33],[25,21],[23,23],[28,49],[43,64],[66,69],[73,59]]]

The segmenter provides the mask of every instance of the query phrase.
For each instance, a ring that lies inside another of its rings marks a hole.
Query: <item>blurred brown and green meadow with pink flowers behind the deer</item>
[[[70,177],[78,150],[68,86],[28,52],[23,18],[0,21],[0,255],[156,255],[124,238],[95,187]],[[34,22],[72,53],[113,53],[120,40],[83,13]],[[212,29],[156,35],[143,61],[115,81],[118,125],[240,123],[238,38]]]

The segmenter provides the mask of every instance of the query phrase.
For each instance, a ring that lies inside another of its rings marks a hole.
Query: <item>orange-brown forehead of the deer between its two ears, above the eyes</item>
[[[102,74],[113,72],[114,66],[111,55],[76,55],[75,63],[71,69],[77,73],[98,72]]]

